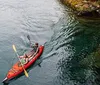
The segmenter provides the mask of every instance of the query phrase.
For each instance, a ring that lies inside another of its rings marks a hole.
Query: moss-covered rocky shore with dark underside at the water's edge
[[[100,0],[60,0],[78,16],[100,17]]]

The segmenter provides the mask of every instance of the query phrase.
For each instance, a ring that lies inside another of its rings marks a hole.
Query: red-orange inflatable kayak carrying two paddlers
[[[34,62],[41,56],[43,52],[44,46],[40,45],[38,48],[38,52],[34,53],[33,50],[31,50],[29,53],[27,53],[28,56],[31,56],[29,61],[23,65],[23,67],[27,70],[29,67],[31,67]],[[35,54],[35,55],[34,55]],[[16,62],[12,68],[8,71],[6,77],[3,80],[3,83],[8,83],[10,80],[16,78],[20,74],[24,72],[24,69],[21,65],[19,65],[20,61]]]

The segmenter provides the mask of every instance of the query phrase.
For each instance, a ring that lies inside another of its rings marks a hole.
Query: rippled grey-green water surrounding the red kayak
[[[30,49],[30,35],[44,52],[29,78],[9,85],[99,85],[98,70],[81,63],[98,48],[99,28],[99,21],[76,18],[56,0],[0,0],[0,81],[18,60],[12,44],[21,55]]]

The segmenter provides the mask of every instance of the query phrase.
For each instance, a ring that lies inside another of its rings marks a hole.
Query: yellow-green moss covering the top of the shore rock
[[[70,5],[76,11],[93,11],[100,6],[100,1],[91,2],[87,0],[63,0],[66,5]]]

